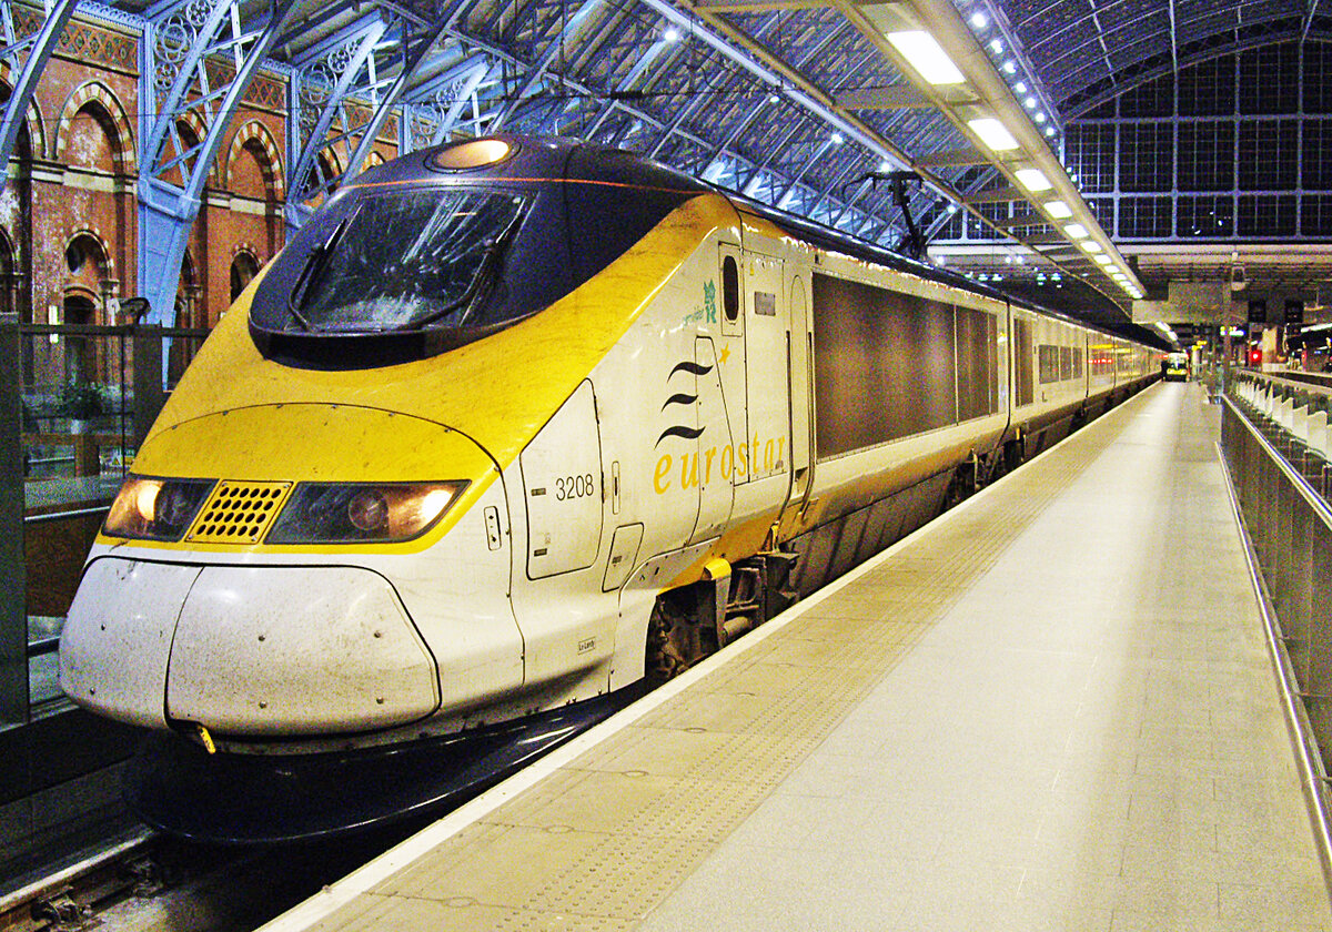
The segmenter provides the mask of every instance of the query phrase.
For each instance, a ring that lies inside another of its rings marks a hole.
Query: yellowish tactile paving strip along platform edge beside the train
[[[1119,410],[316,928],[629,929],[1127,425]],[[706,920],[703,925],[706,925]]]

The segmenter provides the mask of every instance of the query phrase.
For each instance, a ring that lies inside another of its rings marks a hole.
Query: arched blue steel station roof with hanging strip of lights
[[[197,41],[202,13],[218,4],[233,4],[246,29],[272,31],[268,59],[298,77],[305,128],[334,107],[354,125],[346,101],[393,96],[412,146],[496,130],[591,138],[908,252],[966,212],[1030,261],[1083,282],[1066,310],[1103,325],[1126,321],[1144,286],[1067,176],[1067,122],[1189,63],[1332,40],[1332,0],[128,0],[119,9],[153,23],[161,67]],[[918,33],[951,75],[922,64],[908,43]],[[994,124],[998,141],[986,134]],[[895,172],[919,180],[895,182]]]

